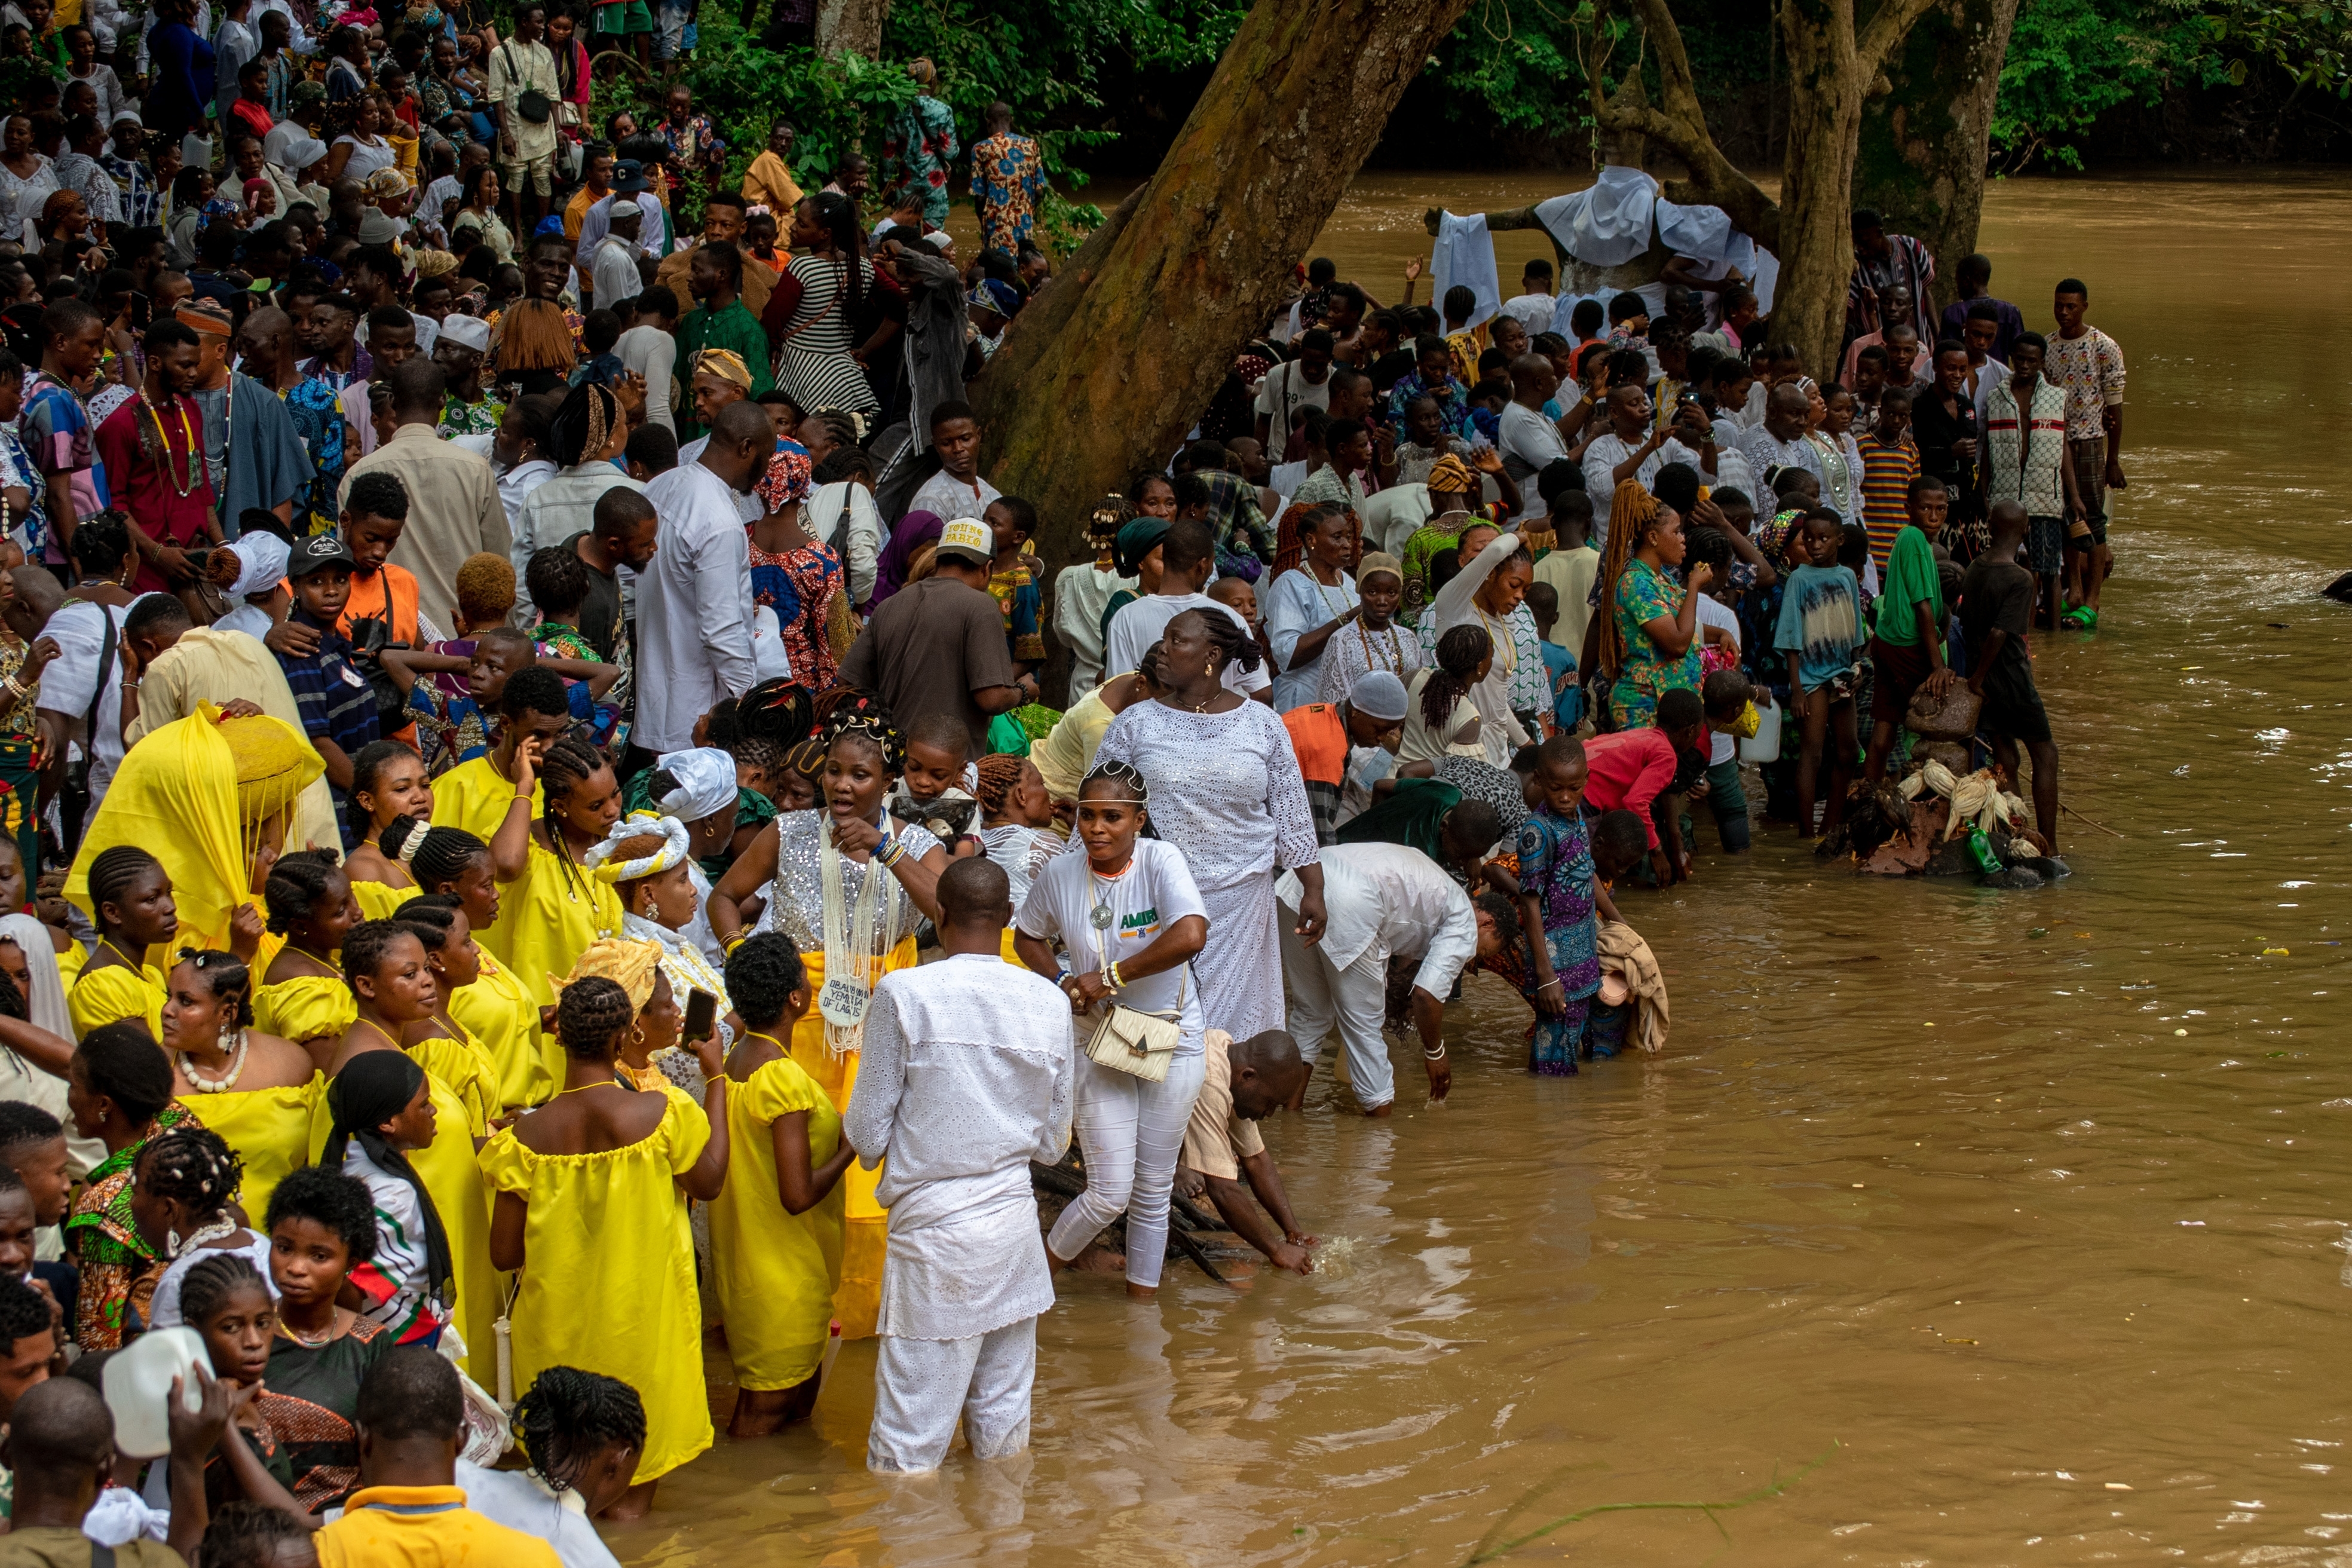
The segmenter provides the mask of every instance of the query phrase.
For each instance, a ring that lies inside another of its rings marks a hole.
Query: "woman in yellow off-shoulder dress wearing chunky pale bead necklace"
[[[310,1114],[327,1079],[310,1053],[254,1030],[254,971],[233,952],[183,952],[165,978],[162,1048],[172,1095],[245,1161],[238,1204],[268,1213],[270,1192],[310,1161]]]

